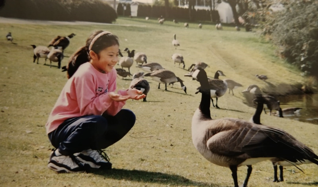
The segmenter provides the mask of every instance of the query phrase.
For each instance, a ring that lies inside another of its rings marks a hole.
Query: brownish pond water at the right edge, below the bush
[[[285,118],[291,118],[302,122],[318,125],[318,94],[276,96],[280,101],[280,108],[300,107],[299,114],[284,115]]]

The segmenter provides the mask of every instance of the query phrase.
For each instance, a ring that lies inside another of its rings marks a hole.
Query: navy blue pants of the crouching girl
[[[124,137],[135,121],[135,114],[127,109],[120,110],[115,116],[74,117],[65,120],[48,136],[61,154],[69,156],[86,149],[107,148]]]

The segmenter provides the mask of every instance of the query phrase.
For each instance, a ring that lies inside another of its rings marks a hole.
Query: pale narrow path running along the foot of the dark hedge
[[[146,25],[130,25],[130,24],[112,24],[112,23],[95,23],[84,21],[45,21],[45,20],[31,20],[19,18],[0,17],[0,23],[15,23],[15,24],[36,24],[36,25],[116,25],[116,26],[134,26],[146,27]]]

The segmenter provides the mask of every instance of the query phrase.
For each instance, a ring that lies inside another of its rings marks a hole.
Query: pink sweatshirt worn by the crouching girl
[[[108,92],[116,90],[117,72],[101,73],[89,62],[79,69],[66,82],[49,119],[45,125],[46,133],[57,129],[68,118],[86,115],[116,115],[126,104],[125,101],[111,100]],[[127,90],[118,90],[118,94],[126,96]]]

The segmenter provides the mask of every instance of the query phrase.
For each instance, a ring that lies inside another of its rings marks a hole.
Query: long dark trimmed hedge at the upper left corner
[[[115,10],[102,0],[10,0],[0,16],[54,21],[90,21],[112,23]]]

